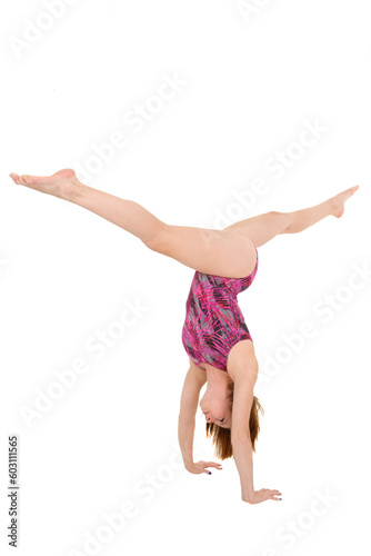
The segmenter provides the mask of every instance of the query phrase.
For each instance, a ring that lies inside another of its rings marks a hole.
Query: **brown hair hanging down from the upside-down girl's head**
[[[234,383],[230,380],[228,384],[229,389],[229,400],[231,405],[233,405],[233,393],[234,393]],[[249,419],[249,430],[250,430],[250,439],[253,451],[255,451],[255,441],[258,439],[258,434],[260,430],[259,425],[259,411],[262,414],[264,409],[260,405],[259,399],[253,396],[252,406],[250,410],[250,419]],[[231,429],[219,427],[214,423],[207,423],[207,437],[211,437],[212,444],[214,446],[214,456],[219,459],[227,459],[233,456],[233,448],[231,441]]]

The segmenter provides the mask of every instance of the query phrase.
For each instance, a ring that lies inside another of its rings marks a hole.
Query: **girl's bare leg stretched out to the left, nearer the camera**
[[[84,186],[71,169],[48,177],[10,176],[18,185],[59,197],[99,215],[138,237],[150,249],[194,270],[242,278],[254,268],[255,249],[243,235],[164,224],[138,202]]]

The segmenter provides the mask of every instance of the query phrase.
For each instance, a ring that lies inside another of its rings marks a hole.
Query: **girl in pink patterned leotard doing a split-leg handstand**
[[[250,504],[281,500],[281,493],[254,490],[252,451],[259,433],[259,410],[253,395],[258,361],[252,338],[238,306],[258,269],[258,247],[279,234],[297,234],[327,216],[340,218],[344,203],[359,186],[320,205],[293,212],[270,211],[241,220],[223,230],[172,226],[159,220],[134,201],[88,187],[71,169],[52,176],[10,173],[17,185],[59,197],[96,212],[137,236],[149,249],[195,270],[187,299],[182,341],[190,366],[179,413],[179,444],[186,469],[207,473],[220,469],[213,461],[193,461],[192,445],[199,395],[200,407],[220,459],[233,456],[240,475],[241,498]]]

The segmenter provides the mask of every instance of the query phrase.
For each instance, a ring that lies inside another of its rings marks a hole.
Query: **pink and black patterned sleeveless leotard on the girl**
[[[194,272],[186,304],[182,342],[189,358],[198,366],[207,363],[227,371],[227,358],[238,341],[250,339],[237,296],[249,288],[258,270],[249,276],[224,278]]]

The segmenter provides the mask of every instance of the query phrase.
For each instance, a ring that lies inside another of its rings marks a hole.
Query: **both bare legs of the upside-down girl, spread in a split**
[[[79,205],[137,236],[147,247],[205,274],[242,278],[254,268],[260,247],[279,234],[297,234],[322,218],[340,217],[359,186],[314,207],[294,212],[267,212],[223,230],[164,224],[134,201],[81,183],[71,169],[48,177],[18,176],[16,183]]]

